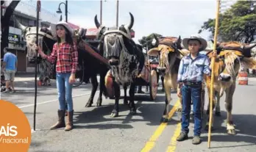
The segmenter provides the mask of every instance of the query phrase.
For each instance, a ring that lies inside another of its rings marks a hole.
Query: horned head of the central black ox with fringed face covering
[[[132,44],[132,37],[130,30],[132,29],[134,18],[129,12],[130,22],[128,25],[121,25],[119,27],[105,27],[102,26],[97,15],[94,18],[96,27],[99,29],[97,38],[101,41],[99,48],[104,51],[104,57],[109,59],[110,66],[119,64],[119,57],[121,51],[128,51],[129,54],[135,53],[135,44]]]

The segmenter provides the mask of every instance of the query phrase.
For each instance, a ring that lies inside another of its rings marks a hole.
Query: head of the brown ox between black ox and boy
[[[180,36],[158,38],[156,35],[154,35],[154,39],[156,40],[154,46],[157,47],[150,49],[148,55],[155,57],[160,56],[160,64],[158,65],[157,70],[162,74],[169,73],[171,68],[174,67],[176,57],[179,56],[179,49],[182,49],[182,40]]]

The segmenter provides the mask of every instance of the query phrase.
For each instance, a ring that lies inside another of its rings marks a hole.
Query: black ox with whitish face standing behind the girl
[[[25,35],[24,38],[26,38],[26,47],[27,47],[27,57],[29,59],[29,62],[35,62],[36,57],[36,27],[28,27],[24,26],[21,23],[19,23],[15,19],[15,24],[18,26],[19,29],[22,30],[23,35]],[[97,74],[100,74],[100,93],[99,98],[97,100],[96,106],[102,106],[102,93],[104,95],[107,95],[106,89],[104,87],[104,76],[107,73],[107,65],[103,65],[99,60],[94,59],[91,57],[90,54],[88,54],[88,51],[85,51],[85,41],[82,40],[85,38],[85,29],[79,29],[79,31],[74,32],[74,40],[75,43],[77,43],[77,49],[79,53],[79,65],[76,73],[76,78],[80,79],[80,84],[82,82],[87,83],[90,79],[90,82],[92,84],[92,90],[90,94],[90,98],[88,99],[88,103],[85,105],[86,107],[89,107],[93,104],[93,98],[96,93],[97,87],[98,87],[98,81],[97,81]],[[47,28],[39,28],[38,32],[38,44],[42,47],[45,54],[51,54],[51,50],[53,48],[54,43],[57,41],[54,38],[54,34],[51,33],[50,29]],[[96,54],[99,54],[99,51],[97,48],[93,48],[93,51],[95,51]],[[103,57],[102,57],[103,58]],[[43,65],[45,67],[43,70],[49,75],[50,79],[56,79],[56,71],[55,71],[55,64],[49,63],[46,59],[42,59],[41,57],[38,57],[38,63]]]

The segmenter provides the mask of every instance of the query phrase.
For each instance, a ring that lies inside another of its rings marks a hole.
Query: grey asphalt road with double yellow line
[[[16,93],[1,94],[1,99],[11,101],[26,114],[33,129],[34,82],[24,80],[16,83]],[[202,143],[193,145],[193,122],[190,125],[190,139],[176,142],[179,135],[179,115],[174,109],[169,113],[168,123],[160,124],[164,109],[164,94],[159,91],[156,101],[150,101],[149,93],[136,94],[137,115],[129,115],[129,108],[120,103],[119,117],[112,118],[113,100],[103,98],[102,107],[96,107],[99,93],[96,93],[93,107],[85,108],[90,95],[90,84],[74,88],[74,126],[72,131],[63,129],[50,131],[57,120],[57,90],[55,83],[50,87],[38,87],[38,109],[36,131],[32,132],[29,151],[47,152],[137,152],[137,151],[256,151],[256,78],[249,79],[249,85],[237,85],[233,98],[232,116],[237,134],[226,134],[224,98],[221,98],[221,117],[214,117],[211,148],[207,148],[207,131],[202,132]],[[144,87],[145,88],[145,87]],[[143,89],[144,89],[143,88]],[[121,91],[123,95],[123,91]],[[176,93],[171,93],[171,108],[177,103]],[[205,109],[206,109],[205,105]],[[205,126],[205,122],[204,122]]]

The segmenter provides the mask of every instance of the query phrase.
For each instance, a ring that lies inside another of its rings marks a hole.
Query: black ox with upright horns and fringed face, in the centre
[[[97,39],[100,40],[99,50],[108,59],[111,75],[113,76],[113,88],[115,93],[115,106],[110,117],[117,117],[119,112],[120,85],[124,87],[124,103],[127,101],[126,90],[129,87],[129,108],[130,113],[136,113],[134,103],[135,79],[141,73],[144,65],[142,50],[136,46],[130,35],[134,18],[129,13],[131,21],[129,25],[119,27],[102,26],[97,15],[94,18],[99,33]]]

